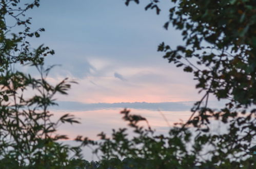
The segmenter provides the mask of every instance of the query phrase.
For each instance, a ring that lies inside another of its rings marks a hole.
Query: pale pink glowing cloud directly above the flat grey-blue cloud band
[[[115,103],[178,102],[200,99],[192,78],[183,72],[173,72],[157,65],[155,67],[121,65],[121,67],[114,65],[115,61],[101,60],[98,57],[94,57],[94,60],[89,59],[89,62],[96,70],[92,70],[84,78],[75,79],[78,85],[71,87],[69,97],[58,96],[58,100]]]

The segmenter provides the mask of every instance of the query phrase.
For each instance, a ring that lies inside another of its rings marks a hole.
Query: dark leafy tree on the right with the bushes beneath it
[[[126,0],[139,4],[139,0]],[[254,168],[255,158],[248,156],[251,141],[256,135],[256,3],[239,0],[172,0],[169,20],[182,32],[185,46],[170,47],[161,43],[158,51],[164,58],[193,73],[196,88],[204,93],[195,102],[186,123],[170,130],[168,136],[155,135],[150,128],[137,124],[143,117],[121,112],[124,119],[139,134],[128,139],[125,129],[113,131],[112,138],[100,134],[104,141],[99,149],[104,158],[131,157],[153,160],[152,168],[200,167]],[[150,1],[145,10],[161,12],[161,1]],[[208,107],[209,95],[227,103],[221,110]],[[228,125],[226,133],[210,132],[214,120]],[[196,131],[190,132],[193,126]],[[196,134],[195,136],[192,136]],[[82,140],[81,140],[82,141]],[[192,148],[188,149],[188,144]],[[204,152],[205,147],[210,150]],[[202,156],[208,158],[204,159]],[[134,166],[134,165],[133,165]],[[137,161],[136,168],[145,168]]]

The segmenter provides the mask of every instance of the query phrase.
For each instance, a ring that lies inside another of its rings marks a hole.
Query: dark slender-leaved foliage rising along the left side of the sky
[[[61,123],[77,123],[66,114],[58,121],[48,109],[56,105],[54,95],[67,94],[68,79],[53,86],[47,81],[51,68],[44,68],[44,58],[54,54],[43,45],[31,49],[29,38],[40,37],[45,31],[31,31],[31,17],[26,11],[40,6],[35,0],[22,4],[16,0],[0,3],[0,168],[61,168],[68,164],[69,152],[80,157],[79,147],[57,143],[66,135],[57,135],[56,127]],[[14,25],[9,25],[15,20]],[[18,29],[17,34],[13,33]],[[38,71],[36,76],[14,69],[14,65],[31,66]]]

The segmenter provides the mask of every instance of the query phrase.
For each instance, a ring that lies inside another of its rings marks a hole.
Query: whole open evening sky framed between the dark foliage
[[[148,2],[143,2],[127,7],[122,0],[44,0],[27,12],[32,30],[46,30],[29,39],[32,47],[44,44],[55,50],[45,59],[46,67],[57,65],[47,80],[57,83],[69,77],[77,82],[67,96],[56,96],[59,106],[51,110],[55,120],[69,113],[81,124],[62,125],[60,134],[71,139],[110,134],[112,128],[127,126],[119,114],[124,108],[145,116],[160,133],[190,117],[190,108],[202,97],[196,81],[157,52],[163,41],[171,48],[184,44],[181,32],[163,28],[172,4],[161,1],[156,15],[144,10]],[[31,68],[19,69],[36,75]],[[211,96],[209,100],[214,108],[222,105]]]

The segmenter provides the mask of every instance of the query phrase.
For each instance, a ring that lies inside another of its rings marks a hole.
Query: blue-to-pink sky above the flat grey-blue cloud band
[[[48,80],[56,83],[69,77],[78,82],[68,97],[57,96],[59,101],[72,106],[74,102],[165,104],[200,98],[192,75],[168,64],[156,51],[162,41],[173,48],[183,44],[180,32],[163,28],[171,3],[160,3],[160,15],[145,11],[146,5],[45,0],[27,13],[33,18],[32,29],[46,29],[39,39],[31,40],[33,47],[45,44],[54,49],[56,54],[46,58],[46,65],[62,65],[53,69]]]

